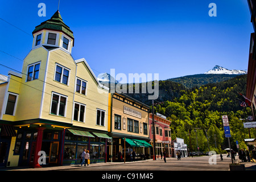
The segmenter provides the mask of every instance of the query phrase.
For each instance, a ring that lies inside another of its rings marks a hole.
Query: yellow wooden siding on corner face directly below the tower
[[[56,64],[59,64],[69,69],[68,85],[62,84],[54,80]],[[55,49],[53,51],[50,51],[41,118],[50,119],[52,121],[68,123],[72,122],[71,119],[73,110],[73,92],[75,88],[75,78],[76,63],[73,60],[72,56],[64,51],[61,51],[61,49]],[[62,94],[68,97],[66,103],[65,117],[50,114],[52,92]]]

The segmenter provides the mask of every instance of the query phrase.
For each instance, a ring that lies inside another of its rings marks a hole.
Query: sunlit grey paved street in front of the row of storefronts
[[[73,168],[67,168],[63,170],[75,170],[75,171],[123,171],[123,170],[133,170],[133,171],[228,171],[229,163],[231,163],[231,158],[226,158],[224,155],[224,160],[220,160],[220,156],[216,157],[216,164],[209,164],[210,156],[200,156],[193,158],[183,158],[177,160],[175,158],[167,158],[167,163],[164,160],[146,160],[144,162],[127,162],[127,163],[116,163],[115,165],[110,165],[108,167],[102,165],[97,167],[90,167],[95,164],[90,164],[89,167],[73,166]],[[212,162],[214,162],[212,160]]]

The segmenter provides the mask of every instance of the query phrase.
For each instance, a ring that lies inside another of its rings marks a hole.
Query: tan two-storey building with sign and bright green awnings
[[[109,142],[108,161],[122,158],[130,161],[130,154],[135,151],[135,160],[149,158],[148,110],[149,106],[125,94],[109,93]],[[119,155],[120,156],[120,155]]]

